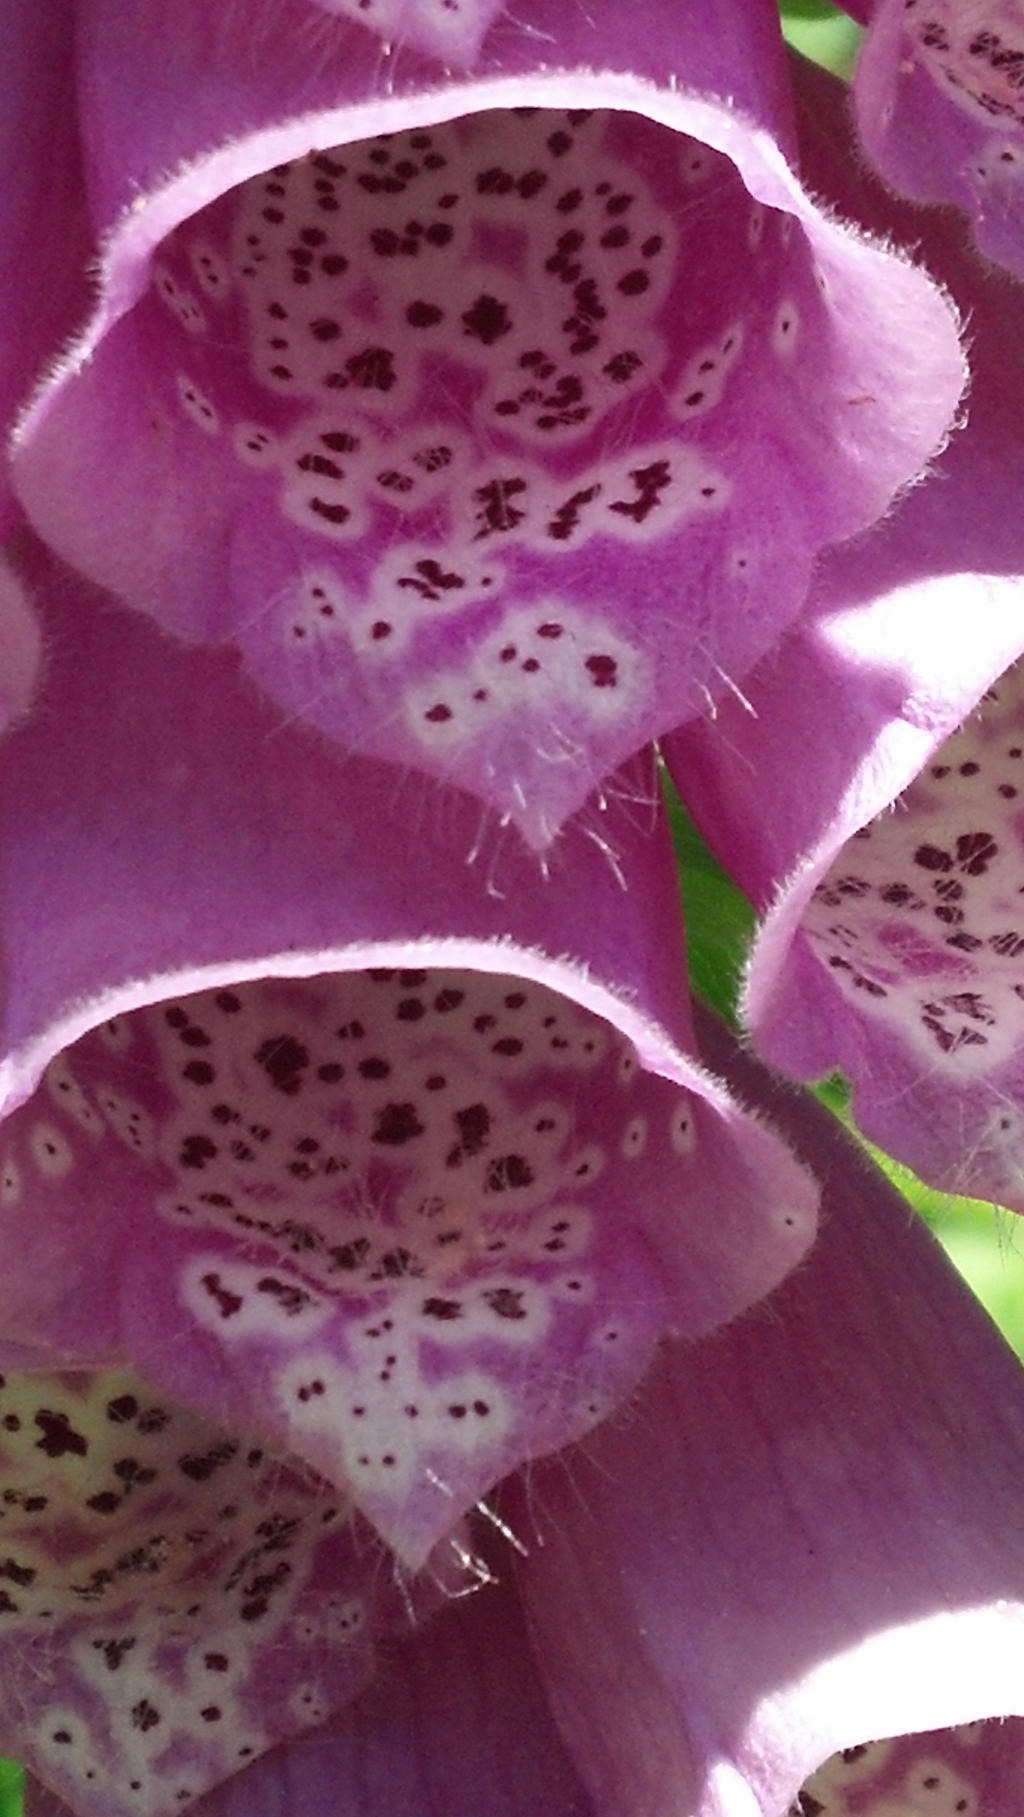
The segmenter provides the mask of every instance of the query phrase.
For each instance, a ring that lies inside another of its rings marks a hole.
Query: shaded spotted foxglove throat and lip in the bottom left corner
[[[309,1472],[131,1372],[7,1375],[0,1437],[0,1744],[80,1817],[180,1810],[367,1681],[396,1592]]]

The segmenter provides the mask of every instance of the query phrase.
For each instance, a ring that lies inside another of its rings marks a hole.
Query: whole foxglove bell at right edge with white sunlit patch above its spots
[[[801,82],[806,164],[850,196],[841,91]],[[761,1050],[804,1079],[842,1068],[861,1128],[935,1185],[1024,1206],[1015,670],[966,718],[1020,645],[1024,307],[948,214],[868,189],[861,207],[913,233],[970,311],[966,429],[873,536],[826,556],[806,623],[744,685],[752,710],[724,703],[666,750],[764,914],[744,1010]],[[750,814],[752,776],[770,816]]]

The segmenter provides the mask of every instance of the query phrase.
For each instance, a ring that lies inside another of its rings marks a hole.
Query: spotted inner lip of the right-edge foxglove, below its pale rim
[[[857,1116],[946,1190],[1024,1210],[1024,670],[846,845],[799,932]],[[853,1014],[850,1014],[853,1005]],[[768,1043],[772,1045],[772,1036]]]

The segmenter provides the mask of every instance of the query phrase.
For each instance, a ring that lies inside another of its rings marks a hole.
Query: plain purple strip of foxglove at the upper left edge
[[[82,153],[73,100],[73,0],[0,0],[0,434],[27,403],[33,382],[85,316]],[[0,540],[15,520],[0,476]],[[2,632],[0,632],[2,634]],[[0,658],[4,647],[0,645]]]

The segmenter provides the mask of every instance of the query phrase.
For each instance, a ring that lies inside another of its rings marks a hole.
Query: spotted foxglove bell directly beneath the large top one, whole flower
[[[49,605],[5,747],[4,1343],[267,1434],[418,1566],[772,1288],[815,1188],[692,1057],[654,801],[488,894],[474,805],[418,792],[419,889],[396,772]]]

